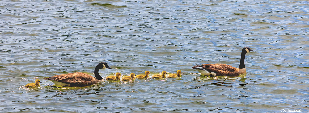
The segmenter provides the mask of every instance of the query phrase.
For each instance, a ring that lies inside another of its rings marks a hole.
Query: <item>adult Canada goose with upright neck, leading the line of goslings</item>
[[[202,75],[236,77],[240,74],[246,73],[245,55],[250,51],[253,50],[251,50],[249,47],[243,48],[241,51],[240,64],[238,68],[226,64],[202,64],[193,66],[192,68],[196,69]]]

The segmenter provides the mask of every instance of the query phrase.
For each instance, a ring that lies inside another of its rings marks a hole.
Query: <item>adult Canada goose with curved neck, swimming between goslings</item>
[[[69,86],[69,87],[89,86],[96,82],[102,81],[103,78],[99,75],[99,70],[104,68],[112,69],[107,65],[106,62],[101,62],[95,67],[95,77],[92,77],[91,75],[86,73],[75,72],[75,73],[55,75],[53,77],[44,79],[50,80],[54,82],[55,85],[60,86]]]

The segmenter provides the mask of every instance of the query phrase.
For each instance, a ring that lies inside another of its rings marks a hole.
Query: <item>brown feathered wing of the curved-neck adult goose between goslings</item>
[[[81,87],[89,86],[94,84],[95,82],[98,82],[98,80],[95,77],[80,72],[55,75],[53,77],[49,77],[46,79],[70,84],[70,86],[81,86]]]

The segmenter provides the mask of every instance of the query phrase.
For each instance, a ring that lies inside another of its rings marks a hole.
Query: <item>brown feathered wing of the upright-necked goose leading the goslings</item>
[[[208,72],[214,72],[217,76],[238,76],[238,69],[226,64],[203,64],[199,65],[203,69],[207,70]]]

